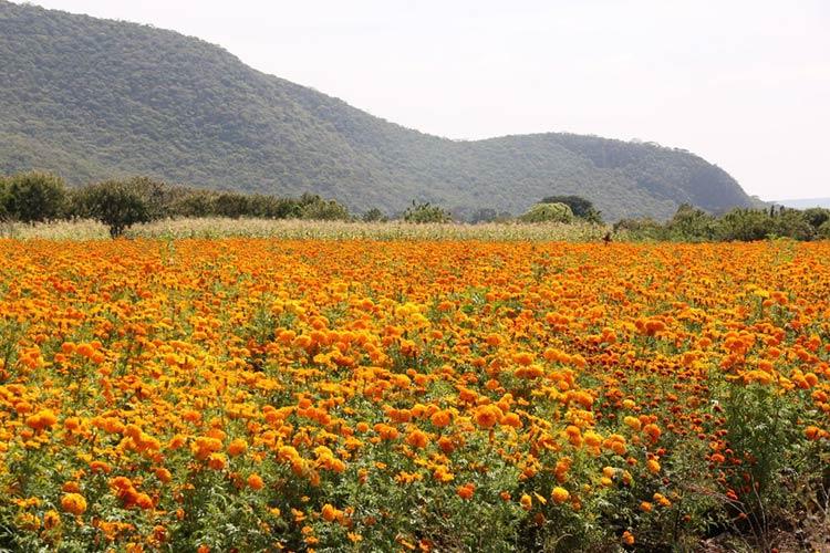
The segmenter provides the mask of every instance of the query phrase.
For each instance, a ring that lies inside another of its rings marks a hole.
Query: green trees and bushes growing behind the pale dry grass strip
[[[0,220],[41,222],[66,219],[95,219],[118,237],[133,225],[166,218],[226,217],[308,220],[387,221],[391,218],[413,223],[457,220],[445,208],[427,201],[412,201],[404,211],[387,216],[372,208],[357,216],[331,199],[313,194],[278,197],[263,194],[200,190],[174,186],[147,177],[111,179],[70,188],[56,175],[29,171],[0,176]],[[571,222],[584,219],[601,222],[593,205],[577,196],[544,198],[520,216],[520,222]],[[469,222],[517,220],[507,211],[479,209]]]

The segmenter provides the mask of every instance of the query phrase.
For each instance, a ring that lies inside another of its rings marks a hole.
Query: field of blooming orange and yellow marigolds
[[[828,483],[829,243],[0,261],[8,549],[653,551]]]

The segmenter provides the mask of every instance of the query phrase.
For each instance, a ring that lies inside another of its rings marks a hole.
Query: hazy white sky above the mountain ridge
[[[830,0],[35,0],[173,29],[450,138],[689,149],[764,199],[830,196]]]

